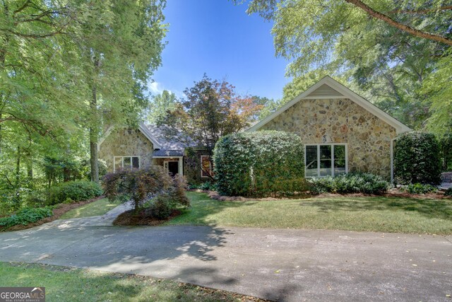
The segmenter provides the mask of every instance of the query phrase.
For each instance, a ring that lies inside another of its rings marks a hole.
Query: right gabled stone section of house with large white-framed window
[[[360,171],[391,180],[394,141],[411,131],[329,76],[246,129],[259,130],[298,134],[308,178]]]

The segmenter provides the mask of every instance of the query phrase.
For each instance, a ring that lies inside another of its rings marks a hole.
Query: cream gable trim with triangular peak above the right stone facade
[[[370,103],[368,100],[362,98],[362,96],[357,95],[357,93],[351,91],[349,88],[343,86],[343,84],[335,81],[330,76],[325,76],[323,79],[315,83],[313,86],[309,87],[307,91],[301,93],[296,98],[291,100],[289,103],[286,103],[281,108],[273,112],[271,115],[268,115],[265,119],[261,120],[257,124],[254,124],[249,129],[246,129],[246,132],[254,132],[258,129],[261,129],[265,124],[273,120],[275,117],[278,117],[281,113],[285,112],[285,110],[291,108],[293,105],[298,103],[300,100],[309,100],[309,99],[324,99],[324,98],[349,98],[352,102],[361,106],[365,110],[371,112],[371,114],[379,117],[381,120],[389,124],[391,127],[396,129],[397,134],[401,134],[404,132],[411,131],[410,127],[406,126],[402,122],[399,122],[388,113],[384,112],[380,108],[376,107],[376,105]]]

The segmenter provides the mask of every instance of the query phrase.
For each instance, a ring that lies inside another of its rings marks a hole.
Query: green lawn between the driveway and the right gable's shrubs
[[[452,234],[451,199],[328,197],[220,202],[187,192],[191,209],[167,224]]]

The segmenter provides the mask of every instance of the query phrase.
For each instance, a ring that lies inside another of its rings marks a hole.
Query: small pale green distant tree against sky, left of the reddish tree
[[[177,97],[171,91],[164,90],[153,96],[152,103],[147,109],[146,120],[151,124],[161,124],[168,115],[168,111],[176,108]]]

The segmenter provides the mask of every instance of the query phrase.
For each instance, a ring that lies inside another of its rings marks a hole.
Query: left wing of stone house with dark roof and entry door
[[[185,175],[189,183],[198,184],[212,175],[210,157],[182,133],[153,124],[138,129],[109,127],[98,144],[99,158],[107,170],[145,168],[161,165],[170,175]],[[201,168],[201,166],[203,168]]]

